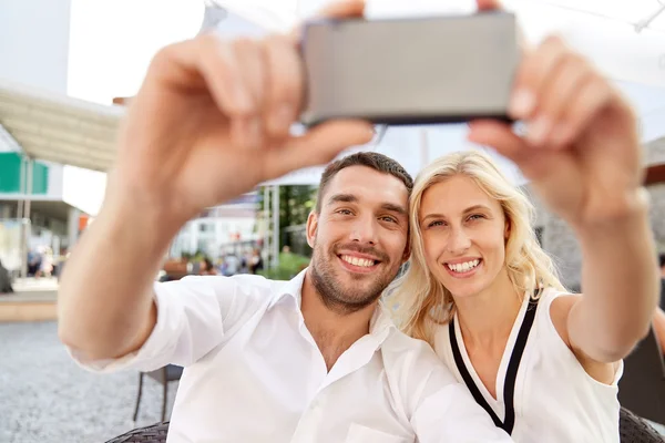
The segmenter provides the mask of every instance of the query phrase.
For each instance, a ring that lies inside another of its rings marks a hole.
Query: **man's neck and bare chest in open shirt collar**
[[[369,333],[369,322],[377,303],[371,303],[359,311],[341,313],[326,306],[314,285],[309,271],[303,282],[300,310],[305,326],[316,341],[328,371],[339,356]]]

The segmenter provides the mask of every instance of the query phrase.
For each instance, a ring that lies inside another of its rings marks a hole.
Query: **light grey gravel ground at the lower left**
[[[137,372],[80,369],[58,340],[55,322],[0,323],[0,349],[2,443],[102,443],[161,419],[157,383],[146,379],[134,425]],[[170,385],[170,408],[176,388]]]

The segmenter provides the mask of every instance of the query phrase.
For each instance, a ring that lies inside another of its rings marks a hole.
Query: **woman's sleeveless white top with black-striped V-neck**
[[[511,435],[518,443],[618,443],[617,383],[623,373],[623,363],[612,384],[601,383],[584,371],[556,332],[550,316],[552,301],[562,295],[564,292],[551,288],[541,293],[516,373],[513,396],[515,421]],[[499,365],[497,400],[471,364],[456,316],[456,338],[462,360],[478,390],[501,421],[505,415],[503,388],[507,369],[528,306],[529,297],[524,297]],[[434,350],[454,377],[463,382],[454,361],[448,328],[448,324],[438,327]]]

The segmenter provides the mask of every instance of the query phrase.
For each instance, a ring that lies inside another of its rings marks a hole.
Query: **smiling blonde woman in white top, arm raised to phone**
[[[526,135],[478,121],[469,140],[511,158],[575,233],[584,295],[561,285],[528,198],[464,152],[416,179],[396,316],[516,442],[618,442],[622,359],[657,300],[635,116],[559,39],[525,53],[514,87]]]

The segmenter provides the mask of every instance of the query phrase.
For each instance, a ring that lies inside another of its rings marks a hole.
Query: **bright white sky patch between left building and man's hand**
[[[196,34],[197,0],[71,0],[69,95],[111,104],[132,95],[154,53]]]

